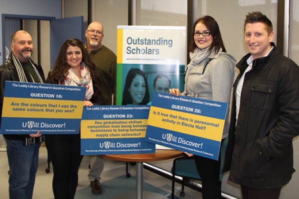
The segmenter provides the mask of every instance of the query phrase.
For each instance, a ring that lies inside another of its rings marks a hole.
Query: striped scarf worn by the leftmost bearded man
[[[28,82],[27,78],[26,78],[26,75],[25,75],[25,72],[24,72],[24,69],[20,63],[20,61],[18,60],[18,58],[16,58],[13,53],[11,53],[11,58],[12,58],[12,62],[13,62],[13,65],[15,66],[16,68],[16,71],[17,71],[17,75],[19,77],[19,80],[20,82]],[[32,65],[32,68],[33,68],[33,71],[38,79],[38,82],[36,83],[44,83],[41,76],[39,75],[37,69],[35,68],[33,62],[31,61],[31,59],[29,59],[29,62],[30,64]],[[30,74],[30,77],[31,77],[31,82],[34,82],[34,78],[31,76]]]

